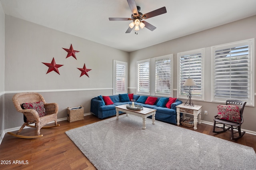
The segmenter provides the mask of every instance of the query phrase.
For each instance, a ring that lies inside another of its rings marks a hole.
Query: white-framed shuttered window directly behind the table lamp
[[[178,97],[187,99],[189,87],[183,86],[188,77],[192,78],[197,86],[190,87],[193,99],[204,100],[203,95],[203,59],[205,49],[197,49],[178,53]]]

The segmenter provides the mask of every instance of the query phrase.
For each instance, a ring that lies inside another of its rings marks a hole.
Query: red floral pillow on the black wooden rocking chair
[[[234,105],[218,105],[218,119],[240,123],[240,108]]]

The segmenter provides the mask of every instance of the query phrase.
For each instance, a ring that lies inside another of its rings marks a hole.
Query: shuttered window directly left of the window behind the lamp
[[[154,66],[154,95],[172,96],[172,57],[163,56],[154,58]]]

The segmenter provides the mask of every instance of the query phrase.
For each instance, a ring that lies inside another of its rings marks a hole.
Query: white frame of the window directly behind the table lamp
[[[204,96],[205,96],[205,88],[204,88],[204,60],[205,60],[205,48],[201,48],[201,49],[195,49],[195,50],[190,50],[190,51],[184,51],[184,52],[180,52],[177,54],[178,56],[178,82],[177,82],[177,97],[180,99],[188,99],[187,95],[182,95],[181,92],[181,72],[180,72],[180,60],[181,57],[184,55],[194,55],[194,54],[198,54],[201,53],[201,96],[195,96],[193,95],[193,91],[192,91],[192,99],[193,100],[198,100],[198,101],[204,101]],[[190,65],[190,63],[189,63]],[[187,77],[188,78],[188,77]],[[193,87],[191,87],[193,89]]]

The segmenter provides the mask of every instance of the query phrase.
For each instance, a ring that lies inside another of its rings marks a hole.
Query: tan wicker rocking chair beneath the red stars
[[[38,112],[35,109],[22,109],[23,103],[35,103],[42,101],[44,104],[45,109],[45,116],[40,117],[38,115]],[[8,134],[11,134],[13,136],[19,137],[19,138],[38,138],[42,137],[43,135],[40,135],[40,129],[41,128],[50,128],[50,127],[57,127],[60,125],[57,125],[57,114],[58,114],[58,104],[57,103],[46,103],[44,101],[44,97],[40,95],[39,93],[34,92],[28,92],[28,93],[17,93],[12,97],[12,102],[14,103],[14,106],[18,112],[21,112],[26,117],[26,121],[24,121],[24,124],[22,127],[20,127],[20,130],[16,134],[12,132],[8,132]],[[55,121],[54,126],[45,126],[47,123]],[[29,125],[31,123],[35,123],[35,125]],[[37,129],[37,136],[23,136],[19,135],[19,133],[22,131],[22,129],[25,126],[29,127],[35,127]]]

